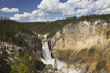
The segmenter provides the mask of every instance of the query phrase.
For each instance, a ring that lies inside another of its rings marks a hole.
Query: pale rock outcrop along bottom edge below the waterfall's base
[[[44,70],[43,73],[86,73],[88,65],[80,65],[80,66],[63,66],[62,69],[55,71],[52,65],[47,65]]]

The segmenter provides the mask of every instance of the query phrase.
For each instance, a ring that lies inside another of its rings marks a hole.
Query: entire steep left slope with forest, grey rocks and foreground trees
[[[23,23],[0,20],[0,73],[33,73],[42,70],[41,49],[41,40]],[[21,61],[16,60],[18,54]]]

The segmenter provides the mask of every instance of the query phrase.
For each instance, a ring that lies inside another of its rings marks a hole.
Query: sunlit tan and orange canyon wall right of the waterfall
[[[95,69],[99,61],[110,63],[110,23],[105,20],[70,23],[58,31],[50,42],[53,57],[66,61],[70,59],[70,63],[96,62],[92,65]]]

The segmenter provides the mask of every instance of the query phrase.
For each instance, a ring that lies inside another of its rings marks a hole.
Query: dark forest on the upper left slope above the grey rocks
[[[23,23],[9,19],[0,20],[0,41],[14,42],[19,46],[26,46],[26,42],[21,41],[15,37],[18,32],[33,34]]]

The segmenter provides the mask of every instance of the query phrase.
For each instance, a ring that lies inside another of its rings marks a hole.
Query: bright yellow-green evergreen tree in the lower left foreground
[[[29,59],[28,53],[24,53],[23,59],[18,56],[10,73],[32,73],[32,61]]]

